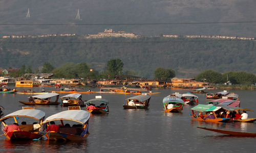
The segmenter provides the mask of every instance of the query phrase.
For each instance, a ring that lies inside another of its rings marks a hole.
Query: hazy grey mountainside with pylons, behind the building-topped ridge
[[[113,29],[144,36],[255,37],[255,5],[250,0],[2,0],[0,36],[86,35]],[[26,19],[28,9],[30,18]],[[75,20],[78,9],[81,20]]]

